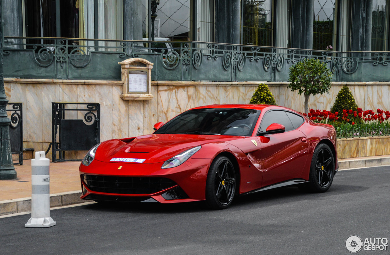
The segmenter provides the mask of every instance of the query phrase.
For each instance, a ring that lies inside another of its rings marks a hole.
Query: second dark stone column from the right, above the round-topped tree
[[[314,0],[291,0],[290,47],[313,49]]]

